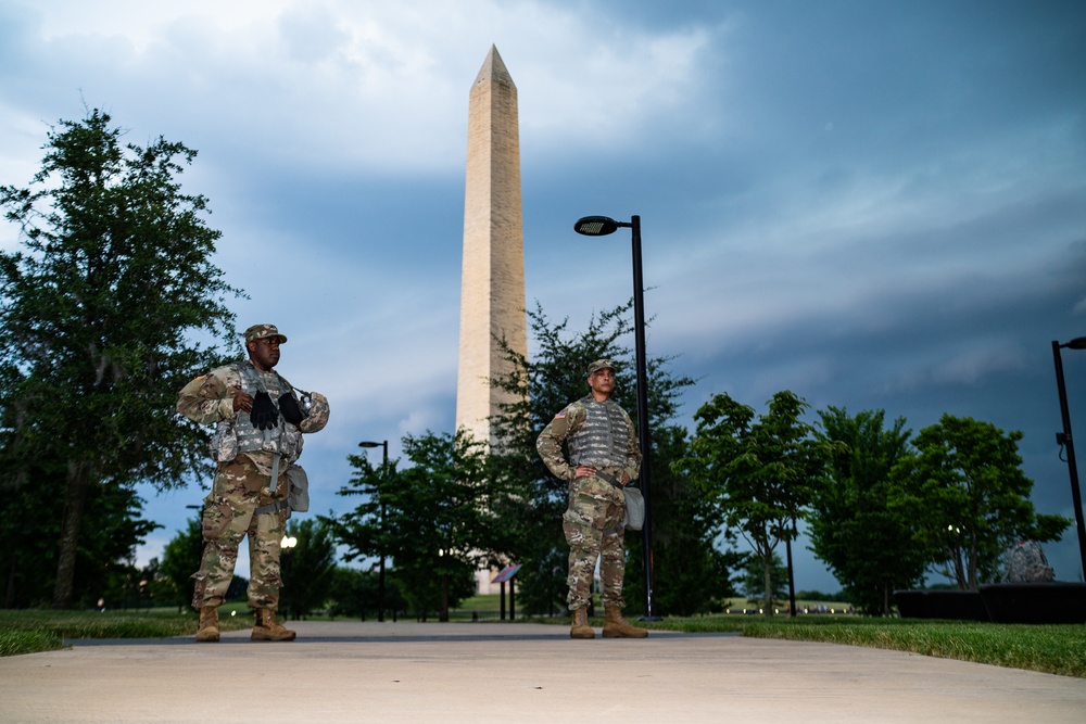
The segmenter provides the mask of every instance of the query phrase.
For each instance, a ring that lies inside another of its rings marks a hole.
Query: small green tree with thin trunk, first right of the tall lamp
[[[821,444],[800,419],[807,403],[783,391],[766,415],[718,394],[694,418],[690,456],[675,469],[719,501],[728,528],[737,529],[761,562],[763,608],[773,614],[773,551],[796,537],[796,520],[823,472]]]

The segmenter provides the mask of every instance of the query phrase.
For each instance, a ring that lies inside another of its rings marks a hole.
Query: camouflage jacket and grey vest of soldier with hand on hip
[[[570,460],[561,452],[567,441]],[[621,468],[629,480],[641,470],[641,448],[630,416],[615,401],[598,402],[592,395],[570,403],[555,415],[540,433],[535,448],[560,480],[573,480],[579,465]]]

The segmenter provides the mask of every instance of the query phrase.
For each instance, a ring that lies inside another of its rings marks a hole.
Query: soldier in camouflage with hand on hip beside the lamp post
[[[535,447],[557,478],[569,482],[569,507],[561,530],[569,543],[569,595],[573,615],[571,638],[595,638],[588,606],[592,575],[599,559],[603,582],[604,638],[644,638],[648,632],[622,618],[626,554],[626,494],[622,488],[641,469],[641,448],[630,416],[610,399],[615,365],[598,359],[589,365],[590,394],[570,403],[540,433]],[[569,448],[569,460],[563,454]]]

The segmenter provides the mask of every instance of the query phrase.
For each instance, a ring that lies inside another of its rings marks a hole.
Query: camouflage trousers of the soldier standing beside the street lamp
[[[589,605],[592,576],[599,560],[604,606],[622,609],[622,577],[626,554],[622,549],[626,496],[619,488],[594,475],[576,478],[570,483],[569,508],[561,517],[561,530],[569,544],[570,611]]]

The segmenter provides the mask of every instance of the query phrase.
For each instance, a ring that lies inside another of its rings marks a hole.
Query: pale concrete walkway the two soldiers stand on
[[[1086,722],[1086,679],[833,644],[523,623],[292,622],[298,640],[0,659],[0,722]]]

